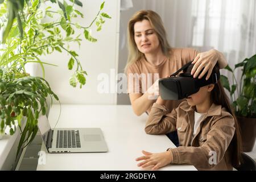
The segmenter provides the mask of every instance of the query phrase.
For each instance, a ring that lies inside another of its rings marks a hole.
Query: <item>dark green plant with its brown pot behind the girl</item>
[[[240,80],[234,76],[237,68],[242,71]],[[221,82],[230,93],[232,105],[240,123],[243,151],[250,152],[253,150],[256,138],[256,55],[236,64],[234,69],[229,66],[226,69],[232,72],[233,83],[230,86],[225,76],[221,76]]]

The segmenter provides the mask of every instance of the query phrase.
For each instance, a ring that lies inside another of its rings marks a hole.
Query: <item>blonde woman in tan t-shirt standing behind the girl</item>
[[[222,53],[214,49],[199,53],[190,48],[171,48],[162,19],[151,10],[138,11],[130,19],[128,42],[129,56],[125,72],[131,105],[137,115],[150,112],[158,97],[158,78],[171,75],[191,60],[195,64],[191,73],[199,78],[209,70],[208,78],[217,62],[220,68],[227,65]],[[172,110],[180,102],[165,101],[164,105]]]

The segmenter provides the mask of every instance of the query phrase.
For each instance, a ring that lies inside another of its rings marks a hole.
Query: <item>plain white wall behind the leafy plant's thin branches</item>
[[[76,18],[82,26],[88,26],[95,18],[100,9],[102,0],[82,1],[81,12],[85,18]],[[108,13],[112,19],[106,19],[102,30],[97,32],[92,28],[92,35],[98,42],[91,43],[85,40],[84,36],[81,47],[71,44],[71,48],[79,54],[82,68],[88,73],[86,84],[79,88],[69,85],[69,77],[73,71],[68,70],[67,53],[55,52],[52,55],[44,56],[43,60],[48,63],[57,64],[58,67],[45,66],[46,80],[49,82],[53,92],[60,98],[61,104],[115,104],[116,94],[100,94],[97,92],[97,80],[100,73],[110,75],[110,69],[117,71],[118,64],[118,43],[119,43],[119,0],[106,0],[102,12]],[[82,33],[82,32],[81,32]],[[37,66],[38,72],[40,67]],[[42,75],[41,75],[42,76]]]

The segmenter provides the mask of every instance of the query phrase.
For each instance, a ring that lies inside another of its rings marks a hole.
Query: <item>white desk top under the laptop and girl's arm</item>
[[[51,127],[59,116],[59,105],[49,113]],[[61,105],[57,127],[100,127],[109,151],[104,153],[46,154],[46,164],[38,170],[142,170],[135,158],[142,150],[166,151],[175,145],[166,135],[148,135],[144,132],[147,115],[137,117],[130,105]],[[160,170],[196,170],[189,165],[169,165]]]

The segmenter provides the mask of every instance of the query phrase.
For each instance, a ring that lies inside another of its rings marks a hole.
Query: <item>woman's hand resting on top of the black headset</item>
[[[196,78],[201,72],[201,70],[203,69],[203,72],[201,72],[198,78],[203,77],[205,73],[208,71],[208,74],[206,77],[206,80],[208,80],[210,77],[210,74],[212,73],[213,67],[214,65],[216,65],[219,58],[220,58],[220,54],[215,49],[211,49],[210,51],[199,53],[192,62],[192,64],[195,64],[195,65],[193,66],[191,75],[193,75],[193,77]]]

